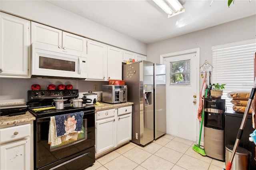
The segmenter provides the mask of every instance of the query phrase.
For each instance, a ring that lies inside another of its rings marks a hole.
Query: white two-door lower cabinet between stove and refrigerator
[[[132,106],[96,112],[96,157],[132,139]]]

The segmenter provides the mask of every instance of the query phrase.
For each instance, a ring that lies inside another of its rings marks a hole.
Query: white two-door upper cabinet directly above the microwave
[[[56,28],[31,22],[31,43],[44,43],[59,49],[78,51],[86,55],[87,39]]]

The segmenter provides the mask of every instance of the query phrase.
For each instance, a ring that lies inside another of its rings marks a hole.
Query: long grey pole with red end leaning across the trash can
[[[253,84],[253,87],[252,87],[252,91],[251,91],[251,94],[250,94],[250,97],[249,97],[249,100],[248,100],[248,103],[247,103],[247,106],[246,106],[246,109],[245,109],[245,112],[244,112],[244,116],[243,116],[243,119],[242,119],[242,123],[240,125],[240,128],[238,130],[238,134],[236,136],[236,142],[234,144],[234,148],[232,150],[232,155],[230,157],[230,161],[228,162],[228,164],[226,165],[226,170],[230,170],[231,167],[232,167],[232,162],[233,162],[233,159],[234,159],[234,156],[235,156],[235,153],[236,153],[236,150],[238,148],[238,144],[240,142],[240,139],[242,137],[242,133],[243,133],[243,130],[244,130],[244,126],[245,126],[245,123],[246,123],[246,119],[247,119],[247,116],[248,116],[248,112],[249,112],[249,109],[250,109],[250,106],[252,104],[252,100],[253,100],[253,97],[255,95],[255,91],[256,91],[256,78],[254,80],[254,84]],[[224,168],[222,168],[223,170]]]

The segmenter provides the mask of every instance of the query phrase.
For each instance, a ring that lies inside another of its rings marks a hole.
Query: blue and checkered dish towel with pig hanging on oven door
[[[82,132],[84,112],[50,117],[48,144],[56,146],[64,141],[77,140]]]

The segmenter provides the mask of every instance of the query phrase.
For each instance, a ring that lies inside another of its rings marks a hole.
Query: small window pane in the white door
[[[170,62],[170,85],[190,85],[190,60]]]

